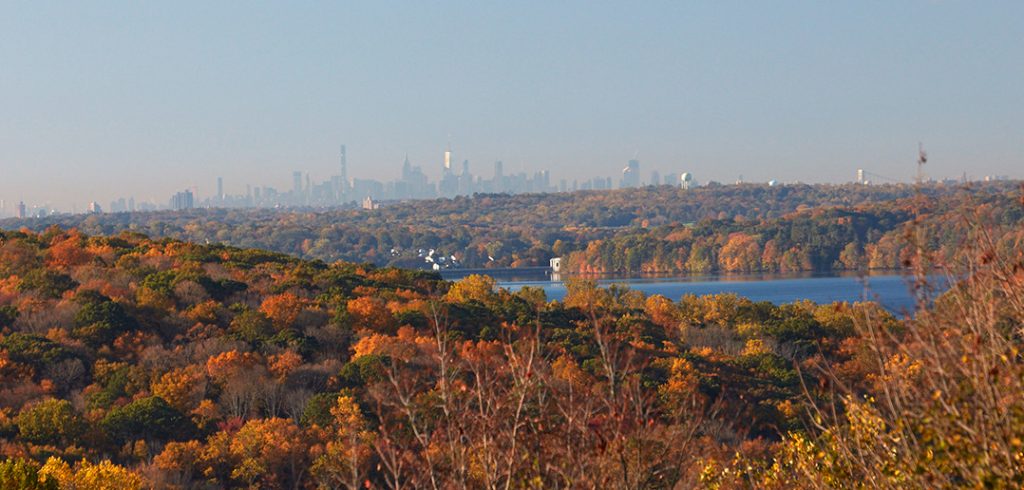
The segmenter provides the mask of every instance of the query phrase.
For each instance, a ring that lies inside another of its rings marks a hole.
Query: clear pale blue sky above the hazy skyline
[[[0,0],[0,199],[295,170],[1024,177],[1024,2]],[[881,180],[882,178],[878,178]],[[616,177],[617,180],[617,177]]]

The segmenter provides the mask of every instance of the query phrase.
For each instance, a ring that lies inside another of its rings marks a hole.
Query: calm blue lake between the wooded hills
[[[444,274],[446,279],[457,280],[460,275]],[[508,270],[494,274],[498,285],[510,291],[523,286],[541,287],[549,300],[565,297],[565,284],[553,280],[543,271],[528,271],[516,275]],[[769,301],[775,304],[811,300],[815,303],[836,301],[858,302],[877,301],[887,310],[903,314],[913,311],[914,298],[909,287],[909,278],[897,274],[858,276],[856,274],[745,274],[721,276],[684,277],[607,277],[597,279],[598,284],[624,284],[631,289],[647,295],[662,295],[678,301],[683,295],[718,295],[732,293],[753,301]],[[938,289],[945,288],[945,281],[935,277]]]

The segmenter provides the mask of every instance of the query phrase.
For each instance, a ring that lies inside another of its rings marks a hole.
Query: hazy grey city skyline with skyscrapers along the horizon
[[[919,147],[919,158],[925,153],[923,146]],[[340,146],[337,173],[327,176],[327,178],[316,178],[308,172],[301,170],[291,171],[290,186],[274,186],[272,184],[240,184],[244,187],[244,192],[231,192],[232,188],[224,186],[224,178],[216,177],[214,192],[205,191],[206,187],[193,185],[183,189],[174,190],[169,198],[161,202],[160,198],[136,199],[134,192],[112,198],[110,205],[103,205],[98,201],[90,201],[83,209],[74,207],[72,209],[59,209],[48,204],[26,203],[24,199],[8,202],[0,197],[0,219],[2,218],[32,218],[42,217],[51,214],[78,214],[78,213],[124,213],[124,212],[148,212],[148,211],[181,211],[194,208],[337,208],[337,207],[359,207],[364,209],[377,209],[378,203],[396,202],[409,199],[430,199],[438,197],[467,196],[475,193],[548,193],[548,192],[573,192],[577,190],[610,190],[629,187],[642,187],[648,185],[672,185],[683,189],[699,187],[706,184],[728,185],[728,184],[796,184],[812,183],[800,180],[791,182],[780,182],[776,179],[767,181],[744,180],[742,175],[737,176],[733,182],[719,182],[714,179],[703,181],[694,177],[691,172],[666,172],[658,169],[648,169],[641,165],[638,158],[639,152],[634,153],[617,175],[611,176],[587,176],[579,175],[573,179],[552,179],[548,170],[540,170],[534,173],[527,172],[506,172],[503,161],[495,161],[489,174],[486,170],[477,169],[478,173],[471,171],[470,162],[463,160],[459,165],[455,160],[455,152],[451,144],[445,146],[442,160],[440,161],[439,172],[425,172],[423,166],[414,165],[409,154],[404,155],[401,165],[400,175],[391,180],[376,180],[361,178],[359,176],[348,177],[348,151],[347,145]],[[924,172],[924,168],[918,167]],[[429,169],[428,169],[429,170]],[[436,179],[432,178],[436,175]],[[946,183],[988,180],[1008,180],[1018,177],[1012,175],[969,175],[964,171],[957,176],[943,176],[936,178],[934,175],[923,173],[910,178],[895,178],[889,175],[874,172],[873,170],[858,168],[853,179],[837,182],[818,182],[831,184],[890,184],[909,183],[916,178],[927,181],[942,181]],[[238,187],[238,185],[236,186]],[[204,190],[201,190],[204,189]],[[132,190],[132,189],[127,189]]]

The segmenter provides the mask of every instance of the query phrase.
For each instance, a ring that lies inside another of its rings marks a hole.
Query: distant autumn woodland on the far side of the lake
[[[193,210],[6,220],[112,235],[135,231],[295,257],[427,268],[421,252],[462,267],[546,266],[585,273],[788,272],[902,268],[910,224],[927,220],[931,250],[950,257],[964,211],[1017,224],[1013,183],[969,186],[670,186],[572,193],[488,194],[362,210]],[[915,225],[916,226],[916,225]]]

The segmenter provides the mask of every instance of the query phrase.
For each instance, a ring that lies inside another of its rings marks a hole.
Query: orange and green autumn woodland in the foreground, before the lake
[[[1020,487],[1024,228],[1002,195],[971,193],[992,201],[948,254],[929,247],[947,228],[916,215],[899,242],[922,299],[906,318],[583,279],[549,302],[486,276],[0,232],[0,487]],[[811,229],[843,216],[763,206],[750,220],[774,239],[772,213]],[[401,208],[381,211],[340,226]],[[322,219],[228,216],[187,219],[253,239]],[[928,306],[934,265],[961,280]]]

